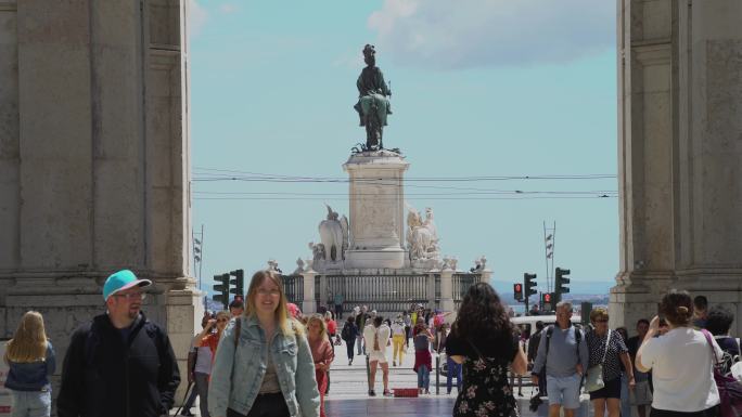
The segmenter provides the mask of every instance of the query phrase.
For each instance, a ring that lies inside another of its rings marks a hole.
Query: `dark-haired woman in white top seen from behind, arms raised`
[[[660,314],[669,330],[660,337],[660,318],[650,323],[649,331],[637,353],[637,369],[652,370],[654,399],[650,417],[715,417],[719,412],[719,391],[712,364],[721,357],[714,339],[693,329],[693,303],[688,291],[670,290],[662,298]]]

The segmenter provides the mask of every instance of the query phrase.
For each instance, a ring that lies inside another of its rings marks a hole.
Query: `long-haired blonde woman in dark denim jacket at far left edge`
[[[36,311],[26,312],[13,338],[5,344],[5,363],[10,366],[5,388],[11,391],[12,417],[49,416],[51,383],[56,360],[47,339],[43,317]]]

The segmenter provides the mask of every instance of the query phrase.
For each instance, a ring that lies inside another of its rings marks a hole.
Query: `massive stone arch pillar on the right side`
[[[739,317],[742,3],[617,3],[621,271],[611,326],[651,318],[668,288]]]

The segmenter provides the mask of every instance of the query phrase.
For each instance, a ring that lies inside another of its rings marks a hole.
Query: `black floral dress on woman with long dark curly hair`
[[[450,340],[450,339],[449,339]],[[478,357],[464,356],[463,389],[453,417],[517,417],[517,404],[508,380],[510,357],[486,357],[468,341]]]

